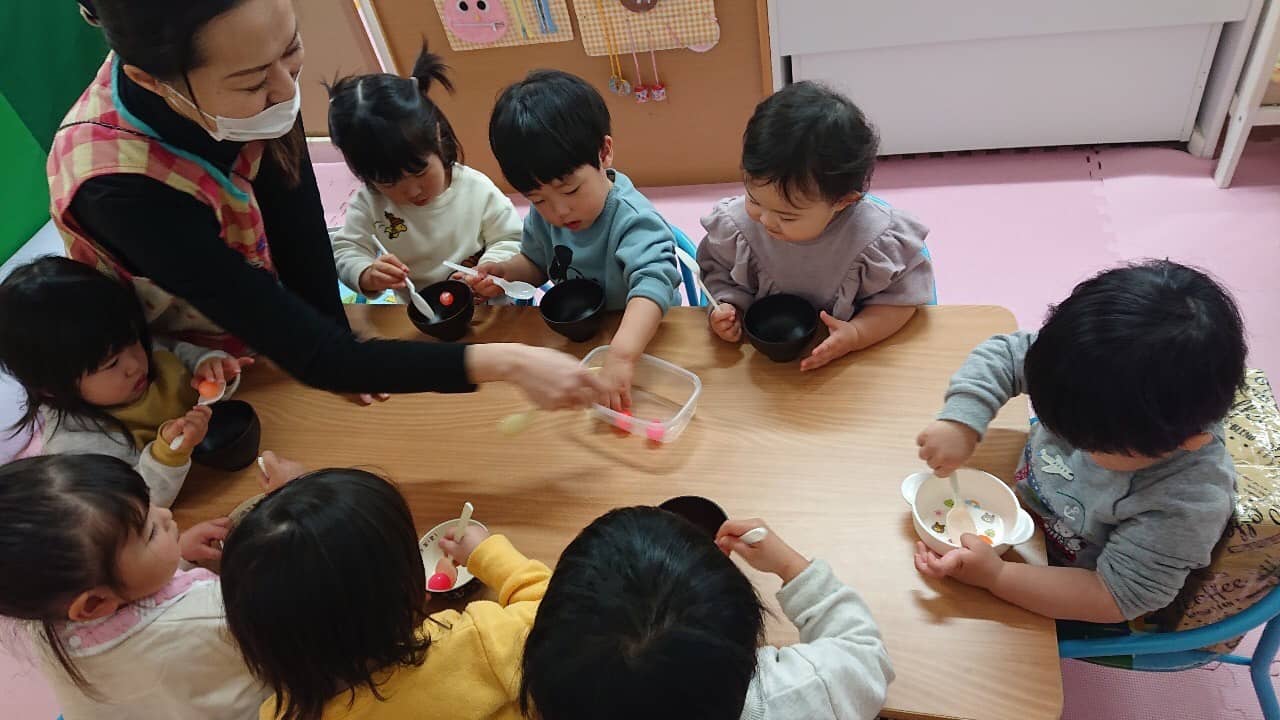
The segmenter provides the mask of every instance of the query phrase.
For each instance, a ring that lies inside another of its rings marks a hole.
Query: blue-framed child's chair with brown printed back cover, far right
[[[1261,370],[1249,370],[1224,420],[1236,468],[1235,518],[1208,569],[1193,574],[1174,606],[1148,616],[1167,632],[1130,629],[1128,634],[1059,642],[1059,655],[1144,671],[1172,671],[1207,662],[1249,667],[1266,720],[1280,720],[1271,684],[1271,662],[1280,650],[1280,587],[1276,585],[1280,521],[1280,410]],[[1213,592],[1202,593],[1212,583]],[[1208,600],[1201,600],[1208,597]],[[1194,610],[1189,612],[1189,610]],[[1249,657],[1234,655],[1238,638],[1265,625]]]

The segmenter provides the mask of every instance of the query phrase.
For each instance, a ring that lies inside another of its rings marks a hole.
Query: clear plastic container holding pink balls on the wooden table
[[[609,354],[602,345],[586,354],[584,368],[600,368]],[[694,419],[698,396],[703,393],[703,380],[689,370],[653,355],[641,355],[631,379],[631,415],[609,410],[603,405],[591,407],[596,418],[634,436],[655,442],[672,442],[680,437]]]

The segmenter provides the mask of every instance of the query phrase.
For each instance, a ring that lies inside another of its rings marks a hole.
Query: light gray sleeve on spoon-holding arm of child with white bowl
[[[978,436],[1011,398],[1027,391],[1024,365],[1034,333],[997,334],[979,345],[951,375],[940,420],[973,428]]]

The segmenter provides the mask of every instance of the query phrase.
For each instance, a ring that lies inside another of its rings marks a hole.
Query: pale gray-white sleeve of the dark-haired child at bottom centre
[[[870,720],[893,667],[867,603],[822,560],[778,591],[800,643],[756,653],[755,698],[774,720]]]

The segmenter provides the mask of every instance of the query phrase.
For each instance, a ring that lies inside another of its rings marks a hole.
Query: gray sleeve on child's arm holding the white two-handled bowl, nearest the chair
[[[1097,573],[1126,619],[1165,607],[1192,570],[1210,564],[1231,516],[1234,478],[1213,478],[1221,473],[1206,460],[1153,484],[1144,507],[1111,532]]]

